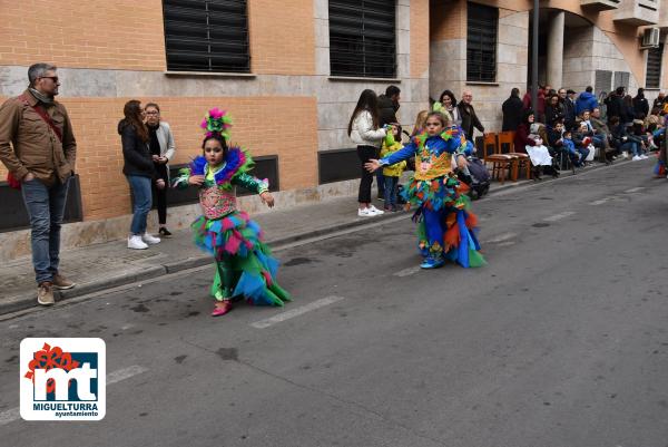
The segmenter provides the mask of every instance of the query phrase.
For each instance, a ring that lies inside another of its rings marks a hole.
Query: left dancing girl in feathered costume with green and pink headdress
[[[283,305],[289,294],[275,280],[278,262],[262,242],[259,226],[248,214],[236,207],[235,185],[259,194],[274,206],[268,182],[248,172],[253,159],[238,146],[227,147],[232,119],[218,108],[209,110],[202,123],[206,136],[202,144],[204,156],[179,172],[174,186],[199,187],[199,204],[204,215],[190,225],[195,244],[213,254],[216,275],[210,293],[216,299],[212,315],[232,310],[232,298],[243,295],[253,304]]]

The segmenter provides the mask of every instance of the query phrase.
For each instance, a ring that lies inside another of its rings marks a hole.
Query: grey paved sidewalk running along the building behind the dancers
[[[562,173],[562,176],[569,174]],[[527,183],[532,182],[508,182],[504,185],[493,182],[490,194]],[[377,207],[381,204],[382,202],[375,203]],[[261,225],[269,246],[276,247],[298,240],[391,220],[401,214],[385,213],[382,216],[358,217],[356,206],[356,196],[344,196],[288,210],[268,210],[250,215],[250,218]],[[147,250],[128,250],[126,245],[127,242],[122,240],[61,252],[60,271],[75,281],[77,286],[55,291],[56,301],[213,262],[210,255],[193,244],[189,229],[174,231],[171,237],[163,239],[159,244],[150,245]],[[0,295],[0,315],[38,305],[37,284],[29,256],[2,265],[0,290],[4,291]]]

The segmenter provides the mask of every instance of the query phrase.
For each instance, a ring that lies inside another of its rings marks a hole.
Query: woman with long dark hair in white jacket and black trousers
[[[381,144],[386,135],[386,130],[379,127],[379,100],[375,91],[370,89],[362,91],[347,129],[348,136],[357,145],[357,156],[360,157],[362,178],[357,195],[360,202],[357,215],[361,217],[383,214],[383,211],[371,204],[373,174],[364,168],[364,164],[369,163],[370,159],[379,158]]]

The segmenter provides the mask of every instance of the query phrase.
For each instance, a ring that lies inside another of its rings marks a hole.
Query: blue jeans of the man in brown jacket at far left
[[[30,216],[32,265],[37,283],[53,281],[60,263],[60,226],[65,214],[67,187],[57,183],[48,187],[39,179],[21,183],[21,194]]]

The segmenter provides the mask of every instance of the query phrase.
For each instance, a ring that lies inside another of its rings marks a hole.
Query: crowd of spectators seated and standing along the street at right
[[[625,87],[618,87],[599,104],[591,86],[579,95],[541,86],[536,107],[531,90],[520,99],[519,89],[513,88],[502,113],[502,130],[515,133],[514,150],[530,154],[534,165],[534,148],[546,146],[552,157],[563,154],[581,167],[596,159],[610,164],[620,157],[647,158],[662,142],[668,100],[661,93],[650,107],[645,89],[631,97]]]

